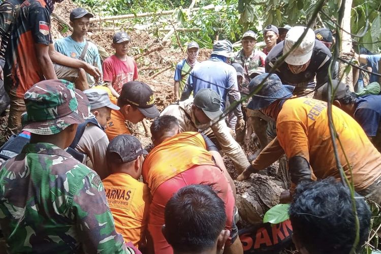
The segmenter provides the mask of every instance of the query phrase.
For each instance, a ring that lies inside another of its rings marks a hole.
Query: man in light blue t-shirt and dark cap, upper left
[[[59,39],[55,42],[55,50],[66,56],[87,62],[89,65],[97,67],[102,72],[101,59],[98,47],[92,42],[86,41],[85,36],[90,25],[90,18],[93,15],[83,8],[76,8],[70,13],[70,25],[73,27],[71,36]],[[82,52],[88,44],[83,59]],[[57,74],[58,76],[58,74]],[[65,75],[64,75],[65,76]],[[94,78],[86,74],[89,86],[95,84]]]

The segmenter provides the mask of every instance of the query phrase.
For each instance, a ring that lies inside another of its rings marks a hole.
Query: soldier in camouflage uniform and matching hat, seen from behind
[[[88,114],[78,111],[77,94],[65,80],[25,93],[30,144],[0,171],[0,225],[10,253],[134,253],[115,231],[98,174],[63,150]]]

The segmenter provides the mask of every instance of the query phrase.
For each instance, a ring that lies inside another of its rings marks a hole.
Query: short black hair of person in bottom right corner
[[[370,210],[365,199],[356,194],[360,241],[366,241],[370,227]],[[348,187],[330,177],[298,184],[290,219],[295,237],[309,253],[347,254],[355,241],[355,215]]]

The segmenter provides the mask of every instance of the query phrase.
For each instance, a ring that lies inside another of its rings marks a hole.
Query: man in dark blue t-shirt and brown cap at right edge
[[[333,90],[335,89],[333,105],[353,116],[373,145],[381,152],[381,96],[370,94],[356,97],[356,93],[352,92],[348,85],[337,80],[333,81]],[[322,96],[327,100],[327,84],[323,86]]]

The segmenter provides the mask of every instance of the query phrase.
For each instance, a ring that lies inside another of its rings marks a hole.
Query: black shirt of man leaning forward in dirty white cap
[[[266,57],[266,72],[275,66],[275,63],[283,55],[284,41],[275,45]],[[329,49],[320,41],[315,40],[315,46],[311,56],[310,63],[304,72],[294,74],[290,71],[286,62],[283,62],[275,74],[279,76],[283,84],[296,86],[298,88],[306,88],[309,84],[314,87],[314,78],[316,76],[316,86],[321,86],[328,81],[328,71],[332,54]],[[334,74],[332,74],[334,76]],[[335,77],[333,77],[334,79]]]

